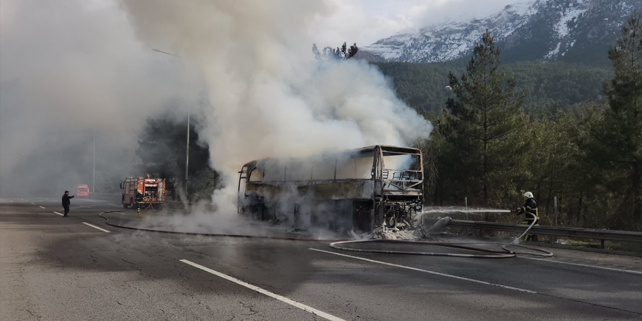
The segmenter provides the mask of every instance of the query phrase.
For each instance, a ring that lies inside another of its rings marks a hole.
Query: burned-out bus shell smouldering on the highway
[[[239,171],[239,215],[295,228],[413,229],[423,203],[417,148],[376,145],[253,160]]]

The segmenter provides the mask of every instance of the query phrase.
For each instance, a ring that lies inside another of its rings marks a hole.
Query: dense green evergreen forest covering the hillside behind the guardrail
[[[417,142],[429,204],[509,209],[531,191],[542,225],[642,230],[639,15],[605,55],[610,71],[560,62],[502,66],[487,32],[464,71],[454,63],[380,64],[399,97],[435,126]],[[394,76],[402,70],[421,85]]]

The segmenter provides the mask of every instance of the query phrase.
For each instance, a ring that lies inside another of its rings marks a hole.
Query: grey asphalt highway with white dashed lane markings
[[[98,214],[135,212],[71,201],[0,200],[0,320],[642,319],[639,257],[344,252],[119,229]]]

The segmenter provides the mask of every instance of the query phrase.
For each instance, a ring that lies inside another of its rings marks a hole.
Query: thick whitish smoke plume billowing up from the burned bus
[[[207,87],[200,135],[236,202],[237,172],[249,160],[327,148],[408,145],[432,126],[397,99],[375,67],[313,60],[329,1],[125,1],[137,36],[189,61]],[[336,39],[334,46],[350,42]],[[225,207],[223,207],[225,208]]]

